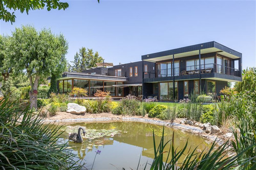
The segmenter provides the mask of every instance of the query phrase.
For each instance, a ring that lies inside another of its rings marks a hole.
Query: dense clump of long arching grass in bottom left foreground
[[[0,167],[4,169],[81,169],[83,165],[59,138],[62,126],[42,124],[41,117],[19,104],[0,100]]]

